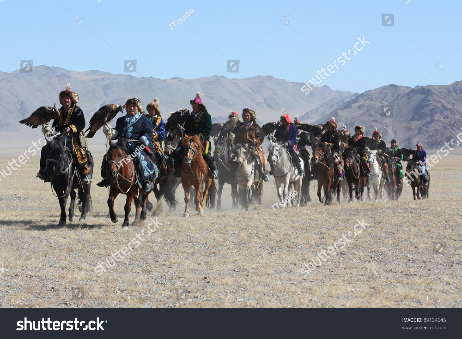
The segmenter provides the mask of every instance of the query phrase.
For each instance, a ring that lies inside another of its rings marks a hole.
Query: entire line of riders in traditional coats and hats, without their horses
[[[77,106],[79,97],[76,92],[70,90],[70,86],[59,94],[59,102],[62,107],[59,109],[59,117],[55,118],[52,125],[49,123],[43,124],[42,131],[44,134],[61,133],[70,136],[72,143],[67,146],[75,155],[73,157],[76,168],[79,169],[82,184],[89,184],[92,181],[91,169],[87,158],[87,145],[83,129],[85,128],[85,117]],[[194,99],[190,100],[192,113],[184,122],[185,135],[197,135],[202,144],[202,154],[210,169],[210,176],[218,178],[218,169],[215,159],[211,155],[210,134],[212,132],[212,118],[207,112],[205,105],[201,101],[201,94],[198,92]],[[165,138],[165,123],[162,119],[160,109],[158,107],[158,99],[149,103],[146,107],[147,114],[144,114],[140,100],[136,98],[128,99],[125,103],[126,115],[120,117],[116,121],[116,127],[112,128],[109,123],[103,127],[103,133],[108,139],[119,139],[125,141],[125,145],[129,152],[135,155],[135,161],[140,171],[140,187],[145,192],[152,189],[153,183],[157,177],[167,176],[167,154],[164,153],[162,141]],[[234,134],[234,143],[246,145],[251,151],[250,154],[254,157],[255,162],[260,165],[262,179],[269,180],[272,174],[267,165],[267,159],[261,147],[265,137],[261,127],[256,122],[255,111],[249,108],[243,109],[242,121],[240,121],[237,112],[232,112],[230,119],[237,118],[239,122],[232,129]],[[295,123],[299,123],[298,120]],[[331,150],[331,155],[334,160],[334,170],[337,180],[343,180],[343,160],[342,152],[340,151],[340,133],[337,130],[337,123],[332,118],[326,122],[326,131],[322,134],[320,142],[328,146]],[[356,153],[362,163],[363,175],[369,176],[371,169],[369,168],[368,155],[366,152],[366,141],[364,138],[364,127],[356,126],[354,135],[347,140],[345,150],[350,150]],[[220,132],[219,137],[225,133]],[[396,182],[399,186],[402,184],[402,165],[403,155],[397,146],[396,140],[390,142],[391,151],[387,152],[387,147],[382,139],[382,134],[377,130],[372,134],[373,141],[369,145],[370,150],[377,150],[380,157],[385,180],[390,181],[390,173],[387,165],[387,157],[394,157],[397,163],[396,167]],[[309,133],[300,130],[292,123],[288,114],[281,115],[280,126],[277,127],[274,138],[285,146],[286,150],[292,158],[292,162],[298,170],[300,176],[305,175],[309,180],[313,179],[316,169],[311,170],[310,152],[306,146],[310,144]],[[71,145],[72,144],[72,145]],[[140,147],[143,145],[144,147]],[[139,150],[139,151],[137,151]],[[172,151],[170,157],[174,163],[174,175],[181,176],[180,163],[182,161],[183,146],[180,145]],[[300,162],[300,157],[304,160],[303,168]],[[153,162],[151,159],[155,160]],[[417,151],[413,155],[414,161],[424,167],[426,161],[426,152],[422,149],[421,144],[417,144]],[[156,165],[157,163],[157,165]],[[40,171],[37,176],[40,179],[47,181],[46,163],[43,155],[40,160]],[[427,179],[426,171],[424,173],[424,182]],[[108,187],[109,180],[107,175],[107,160],[106,156],[103,159],[101,167],[101,176],[103,180],[97,183],[100,187]]]

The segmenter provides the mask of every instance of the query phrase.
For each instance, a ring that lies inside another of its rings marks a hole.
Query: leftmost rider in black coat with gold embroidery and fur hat
[[[59,109],[59,117],[53,120],[50,127],[49,123],[42,125],[42,132],[45,135],[54,135],[56,132],[61,134],[69,134],[72,138],[73,153],[75,158],[73,160],[74,167],[79,169],[80,175],[82,176],[83,184],[90,184],[91,182],[91,168],[88,165],[87,149],[86,149],[86,138],[83,132],[85,128],[85,116],[77,106],[79,102],[79,96],[76,92],[71,91],[71,84],[67,84],[66,90],[61,91],[59,94],[59,102],[61,108]],[[45,182],[48,182],[46,177],[46,156],[44,154],[45,148],[42,147],[42,153],[40,156],[40,171],[37,173],[37,177]]]

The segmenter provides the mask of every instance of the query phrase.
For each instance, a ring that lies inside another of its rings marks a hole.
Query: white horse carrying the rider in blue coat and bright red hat
[[[269,155],[268,163],[273,171],[274,181],[276,182],[276,188],[278,189],[278,197],[281,202],[286,200],[289,195],[289,183],[294,185],[294,190],[297,191],[297,204],[300,206],[300,197],[302,190],[303,176],[300,176],[298,169],[292,164],[292,158],[289,152],[279,143],[273,142],[272,139],[269,141]],[[302,168],[304,166],[303,160],[300,159]]]

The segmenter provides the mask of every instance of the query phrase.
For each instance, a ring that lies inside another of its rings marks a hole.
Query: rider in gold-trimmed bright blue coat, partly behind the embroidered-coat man
[[[153,151],[154,157],[157,160],[158,167],[160,169],[161,176],[167,176],[167,165],[164,161],[164,148],[162,147],[162,141],[165,138],[165,122],[160,115],[160,109],[158,106],[159,99],[154,98],[151,103],[148,103],[146,110],[149,114],[149,119],[151,119],[152,126],[152,140],[150,140],[149,148]]]

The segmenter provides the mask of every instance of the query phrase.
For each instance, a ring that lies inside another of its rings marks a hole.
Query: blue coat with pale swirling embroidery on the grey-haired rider
[[[133,117],[126,114],[117,119],[114,129],[117,131],[116,138],[140,140],[143,145],[148,146],[149,142],[152,140],[152,130],[154,127],[152,126],[151,119],[146,118],[146,116],[138,112]],[[131,152],[131,154],[135,154],[135,149],[137,146],[140,146],[140,144],[129,141],[127,142],[127,146],[128,151]],[[152,175],[157,177],[157,166],[147,157],[144,149],[138,153],[136,158],[140,164],[141,180],[148,179]]]

